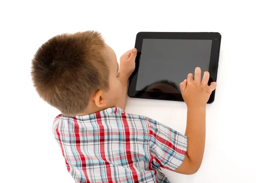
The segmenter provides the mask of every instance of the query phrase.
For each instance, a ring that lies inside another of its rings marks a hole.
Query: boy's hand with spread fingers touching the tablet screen
[[[201,80],[200,67],[195,68],[195,79],[193,74],[189,73],[187,80],[180,83],[180,91],[186,105],[188,107],[205,107],[209,97],[216,89],[217,83],[212,82],[208,86],[209,72],[204,72],[204,77]]]

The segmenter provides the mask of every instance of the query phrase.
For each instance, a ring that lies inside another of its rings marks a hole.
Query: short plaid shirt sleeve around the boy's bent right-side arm
[[[182,163],[187,150],[187,137],[155,120],[147,120],[151,163],[164,169],[175,170]]]

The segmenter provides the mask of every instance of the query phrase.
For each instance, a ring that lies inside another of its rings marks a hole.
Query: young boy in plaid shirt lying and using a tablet
[[[198,171],[204,154],[206,103],[216,88],[201,69],[180,83],[187,105],[185,135],[145,116],[126,113],[136,49],[120,58],[96,31],[52,37],[32,60],[38,94],[63,114],[53,134],[77,183],[169,183],[160,168]]]

